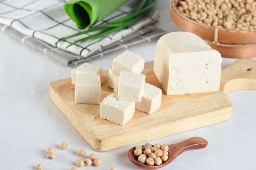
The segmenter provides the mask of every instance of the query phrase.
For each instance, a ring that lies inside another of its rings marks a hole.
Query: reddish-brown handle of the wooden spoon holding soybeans
[[[170,161],[173,161],[177,156],[186,150],[205,148],[207,147],[208,142],[202,137],[191,137],[177,144],[169,145],[169,154],[171,157]]]

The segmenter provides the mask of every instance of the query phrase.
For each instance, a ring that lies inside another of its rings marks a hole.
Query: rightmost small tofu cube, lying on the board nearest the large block
[[[145,83],[141,102],[135,102],[135,109],[150,115],[161,106],[161,101],[162,90],[156,86]]]

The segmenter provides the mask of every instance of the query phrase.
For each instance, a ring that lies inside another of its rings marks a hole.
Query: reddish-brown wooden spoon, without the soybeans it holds
[[[186,150],[191,150],[196,148],[205,148],[207,147],[207,145],[208,145],[207,140],[203,139],[202,137],[191,137],[180,143],[168,145],[169,147],[168,159],[166,161],[163,161],[161,165],[149,166],[147,164],[139,163],[137,157],[135,157],[133,154],[135,147],[130,148],[130,150],[128,151],[128,158],[130,159],[130,161],[132,161],[132,163],[134,163],[135,165],[141,168],[154,170],[154,169],[162,168],[163,166],[166,166],[168,163],[173,161],[173,159],[175,159],[177,156],[179,156],[182,152]]]

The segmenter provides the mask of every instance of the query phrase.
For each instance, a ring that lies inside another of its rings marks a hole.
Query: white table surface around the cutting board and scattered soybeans
[[[169,4],[169,0],[157,2],[155,9],[161,15],[157,26],[169,32],[181,31],[171,20]],[[153,41],[132,47],[130,51],[148,62],[154,60],[155,45]],[[34,170],[36,164],[42,163],[43,170],[69,170],[80,158],[76,156],[80,148],[86,150],[86,155],[95,153],[103,160],[99,167],[79,168],[81,170],[108,170],[111,166],[118,170],[140,169],[128,160],[130,147],[108,152],[93,150],[49,98],[49,83],[70,77],[75,67],[56,63],[3,33],[0,33],[0,49],[0,169]],[[108,70],[121,52],[90,63]],[[222,67],[234,61],[236,59],[223,58]],[[232,103],[229,120],[149,141],[174,144],[200,136],[209,143],[207,148],[182,153],[162,170],[255,169],[256,91],[233,91],[227,96]],[[58,148],[63,141],[68,144],[66,150]],[[46,159],[47,147],[55,148],[55,159]]]

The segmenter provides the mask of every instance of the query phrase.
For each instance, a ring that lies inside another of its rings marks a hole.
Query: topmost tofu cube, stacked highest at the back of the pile
[[[119,77],[122,70],[140,74],[144,69],[144,63],[143,58],[127,50],[113,60],[112,75]]]

